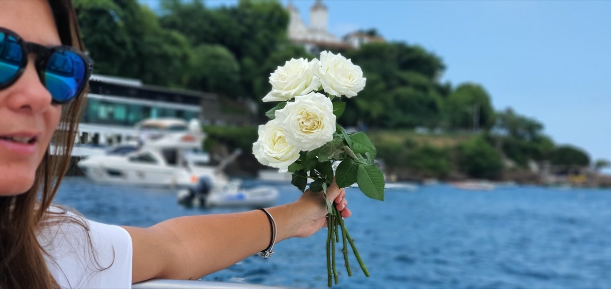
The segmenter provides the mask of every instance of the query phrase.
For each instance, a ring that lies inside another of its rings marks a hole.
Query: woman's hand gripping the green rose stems
[[[348,218],[352,212],[347,208],[348,201],[345,197],[346,190],[338,188],[335,181],[327,188],[327,199],[335,202],[335,207],[342,213],[343,218]],[[304,209],[304,214],[299,216],[296,236],[307,237],[326,227],[327,204],[323,192],[312,192],[307,189],[294,204]]]

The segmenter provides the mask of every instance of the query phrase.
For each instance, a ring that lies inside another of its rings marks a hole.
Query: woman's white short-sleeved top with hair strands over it
[[[50,225],[40,232],[38,242],[52,257],[45,255],[45,261],[60,287],[131,288],[130,234],[116,225],[67,214],[89,224],[92,244],[86,231],[71,222]]]

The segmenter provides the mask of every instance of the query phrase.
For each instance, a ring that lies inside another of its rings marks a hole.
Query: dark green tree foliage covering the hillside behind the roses
[[[251,98],[259,111],[268,111],[275,103],[261,99],[271,89],[270,73],[291,58],[315,57],[288,41],[289,15],[277,1],[240,0],[212,8],[201,0],[164,0],[158,13],[137,0],[73,1],[95,73],[213,92],[221,103]],[[380,36],[376,29],[360,32]],[[344,99],[338,119],[344,126],[490,133],[492,138],[475,137],[456,148],[458,167],[471,177],[497,177],[501,156],[524,168],[531,160],[569,167],[590,163],[582,150],[555,147],[541,122],[511,108],[495,112],[483,86],[441,83],[443,60],[422,46],[367,43],[343,54],[367,78],[358,97]],[[426,177],[443,177],[452,167],[446,148],[376,145],[389,167],[408,167]]]

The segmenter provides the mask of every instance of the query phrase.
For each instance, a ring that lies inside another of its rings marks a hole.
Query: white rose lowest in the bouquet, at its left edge
[[[279,172],[287,172],[288,166],[299,158],[299,148],[287,143],[284,128],[276,121],[270,120],[259,126],[259,137],[252,144],[252,153],[259,163],[276,167]]]

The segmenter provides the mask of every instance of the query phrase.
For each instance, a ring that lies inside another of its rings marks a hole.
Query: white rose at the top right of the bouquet
[[[320,67],[316,75],[320,78],[324,92],[336,97],[356,96],[357,92],[364,89],[367,80],[363,77],[360,67],[352,64],[350,59],[346,59],[342,54],[335,55],[328,51],[320,53]]]

